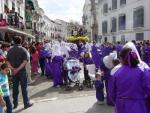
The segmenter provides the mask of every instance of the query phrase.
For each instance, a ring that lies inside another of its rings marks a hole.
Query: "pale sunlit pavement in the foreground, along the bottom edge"
[[[113,108],[107,105],[97,105],[95,96],[77,98],[41,100],[34,106],[23,110],[23,106],[15,113],[113,113]]]

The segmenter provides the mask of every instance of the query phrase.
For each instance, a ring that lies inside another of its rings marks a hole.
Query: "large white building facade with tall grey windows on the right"
[[[150,0],[99,0],[99,35],[103,41],[150,39]]]

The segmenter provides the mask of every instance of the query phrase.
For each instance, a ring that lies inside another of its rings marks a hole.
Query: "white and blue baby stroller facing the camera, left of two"
[[[64,64],[67,71],[66,73],[66,90],[69,90],[71,83],[75,83],[79,87],[79,90],[83,89],[83,85],[80,83],[80,62],[76,58],[68,58]]]

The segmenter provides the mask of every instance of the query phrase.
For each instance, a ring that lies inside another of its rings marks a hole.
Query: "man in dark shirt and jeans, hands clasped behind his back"
[[[19,95],[19,83],[21,83],[24,108],[29,108],[33,104],[29,102],[28,97],[28,84],[27,84],[27,72],[26,64],[28,62],[27,50],[21,46],[21,37],[14,37],[15,45],[8,51],[7,60],[10,68],[12,69],[13,75],[13,103],[14,109],[18,106],[18,95]]]

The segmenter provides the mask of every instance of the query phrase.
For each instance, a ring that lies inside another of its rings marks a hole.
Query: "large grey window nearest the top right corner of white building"
[[[134,28],[144,27],[144,8],[138,8],[134,11]]]

